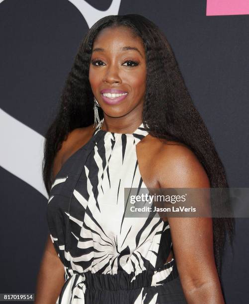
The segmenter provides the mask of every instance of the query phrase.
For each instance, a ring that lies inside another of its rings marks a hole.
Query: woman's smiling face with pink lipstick
[[[105,115],[140,120],[146,90],[142,40],[122,26],[101,30],[92,46],[89,81]]]

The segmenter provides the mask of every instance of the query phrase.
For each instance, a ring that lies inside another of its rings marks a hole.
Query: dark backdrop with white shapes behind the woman
[[[34,162],[20,161],[19,152],[28,153],[34,138],[44,137],[80,41],[112,3],[75,0],[91,5],[82,13],[72,2],[0,1],[0,293],[35,292],[48,233],[41,172],[30,179]],[[163,29],[230,187],[249,187],[249,16],[206,16],[205,0],[121,0],[107,15],[126,13],[142,14]],[[228,304],[249,303],[248,226],[248,219],[236,219],[234,258],[226,250],[222,284]]]

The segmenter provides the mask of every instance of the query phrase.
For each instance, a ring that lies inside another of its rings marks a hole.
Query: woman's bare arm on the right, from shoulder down
[[[160,153],[160,187],[210,188],[206,171],[196,155],[187,147],[169,146],[165,145]],[[200,197],[198,203],[206,203],[204,198],[201,200]],[[187,303],[224,304],[214,259],[212,218],[169,217],[167,221]]]

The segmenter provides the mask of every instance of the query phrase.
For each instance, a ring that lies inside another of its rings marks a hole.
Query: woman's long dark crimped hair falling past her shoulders
[[[147,86],[142,117],[146,130],[154,137],[187,145],[206,170],[210,187],[228,188],[222,161],[191,100],[165,35],[146,17],[127,14],[101,18],[88,30],[79,46],[61,94],[60,108],[45,136],[42,173],[47,192],[50,193],[53,161],[62,147],[62,142],[74,129],[93,124],[94,96],[88,78],[92,45],[103,28],[115,26],[128,27],[136,36],[142,38],[144,43]],[[103,118],[101,108],[99,117]],[[215,206],[221,214],[229,208],[223,202],[224,200],[221,200],[218,205],[216,202]],[[212,199],[211,206],[214,207]],[[226,237],[228,236],[230,244],[233,245],[234,226],[234,218],[213,218],[214,256],[220,278]]]

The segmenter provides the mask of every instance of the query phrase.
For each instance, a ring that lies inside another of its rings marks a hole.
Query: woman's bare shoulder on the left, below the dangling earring
[[[61,149],[57,152],[54,165],[53,165],[53,177],[60,171],[66,160],[81,149],[92,137],[94,132],[93,126],[76,128],[71,131],[65,140],[62,142]]]

